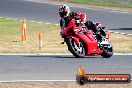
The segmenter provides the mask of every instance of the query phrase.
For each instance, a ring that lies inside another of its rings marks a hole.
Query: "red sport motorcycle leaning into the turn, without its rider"
[[[65,28],[61,29],[60,35],[75,57],[101,55],[109,58],[113,55],[113,48],[105,36],[104,28],[100,27],[98,34],[95,35],[92,30],[85,31],[85,27],[76,26],[75,19],[67,18]],[[101,42],[98,40],[99,37]]]

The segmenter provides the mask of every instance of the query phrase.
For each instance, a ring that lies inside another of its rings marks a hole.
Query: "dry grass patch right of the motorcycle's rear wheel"
[[[111,42],[114,52],[132,53],[132,36],[111,33]]]

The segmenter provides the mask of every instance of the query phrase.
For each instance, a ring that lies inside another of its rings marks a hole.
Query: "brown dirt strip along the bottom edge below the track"
[[[132,88],[129,84],[85,84],[78,85],[76,82],[20,82],[0,83],[0,88]]]

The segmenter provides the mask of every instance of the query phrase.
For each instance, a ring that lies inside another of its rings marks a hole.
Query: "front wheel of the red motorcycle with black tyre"
[[[67,46],[68,50],[78,58],[82,58],[85,56],[85,48],[81,41],[79,41],[79,44],[76,44],[75,40],[73,38],[67,39]]]

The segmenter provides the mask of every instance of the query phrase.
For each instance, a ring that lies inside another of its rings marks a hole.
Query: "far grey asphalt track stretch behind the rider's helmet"
[[[37,0],[36,0],[37,1]],[[70,5],[72,6],[72,5]],[[132,12],[97,10],[85,7],[71,7],[71,11],[85,12],[87,20],[100,21],[107,29],[132,33]],[[24,0],[0,0],[0,16],[59,23],[58,6]]]

